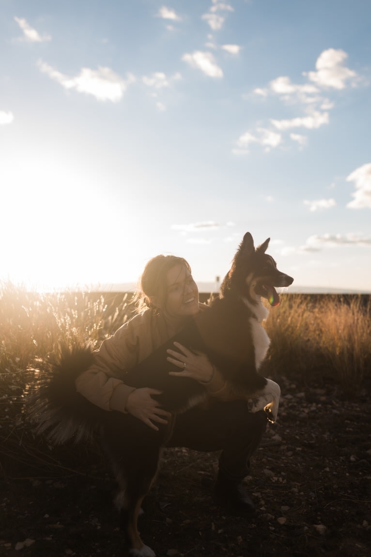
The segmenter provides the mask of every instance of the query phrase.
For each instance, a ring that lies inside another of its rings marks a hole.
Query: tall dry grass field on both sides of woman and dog
[[[40,294],[0,283],[0,457],[10,451],[16,459],[25,448],[35,455],[24,404],[39,380],[38,361],[62,341],[98,346],[130,319],[131,296]],[[368,384],[371,296],[284,294],[265,326],[271,339],[261,370],[266,377],[278,383],[285,377],[301,387],[331,381],[346,397]]]

